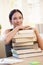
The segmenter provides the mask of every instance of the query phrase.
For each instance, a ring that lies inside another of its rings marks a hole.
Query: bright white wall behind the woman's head
[[[0,0],[0,24],[3,30],[11,28],[8,15],[13,8],[18,8],[23,12],[23,25],[33,26],[43,22],[43,0],[36,0],[33,4],[28,0]]]

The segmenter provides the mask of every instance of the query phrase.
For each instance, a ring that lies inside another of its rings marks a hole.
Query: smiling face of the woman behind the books
[[[19,26],[19,25],[22,25],[22,22],[23,22],[23,17],[22,17],[22,15],[21,15],[19,12],[15,12],[15,13],[13,14],[13,16],[12,16],[11,22],[12,22],[12,25],[13,25],[14,27]]]

